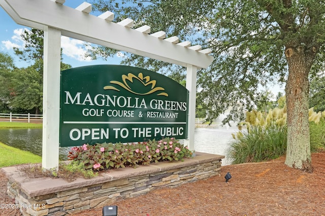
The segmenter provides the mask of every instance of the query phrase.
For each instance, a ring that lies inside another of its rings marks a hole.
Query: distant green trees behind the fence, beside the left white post
[[[14,48],[15,54],[29,61],[27,68],[17,68],[12,57],[0,53],[0,95],[3,112],[35,112],[43,110],[43,31],[32,28],[21,34],[25,42],[22,49]],[[61,69],[71,65],[61,61]]]

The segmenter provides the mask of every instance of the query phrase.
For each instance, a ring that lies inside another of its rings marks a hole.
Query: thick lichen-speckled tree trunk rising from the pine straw
[[[285,164],[312,172],[308,120],[310,62],[300,46],[287,48],[289,75],[286,83],[287,150]]]

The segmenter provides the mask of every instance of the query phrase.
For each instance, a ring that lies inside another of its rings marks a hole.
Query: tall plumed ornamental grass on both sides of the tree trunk
[[[310,149],[317,151],[325,147],[325,112],[315,113],[309,109]],[[247,131],[233,134],[228,155],[233,163],[260,162],[285,155],[287,144],[286,107],[261,112],[246,113],[246,122],[239,124],[239,129],[246,126]]]

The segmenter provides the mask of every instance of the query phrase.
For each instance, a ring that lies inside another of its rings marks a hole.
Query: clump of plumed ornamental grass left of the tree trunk
[[[270,110],[267,115],[257,111],[247,112],[244,125],[247,130],[233,134],[235,140],[228,149],[233,163],[260,162],[285,154],[285,108]]]

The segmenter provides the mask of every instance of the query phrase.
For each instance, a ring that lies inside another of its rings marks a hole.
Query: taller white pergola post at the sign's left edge
[[[58,168],[61,31],[44,29],[42,167]]]

